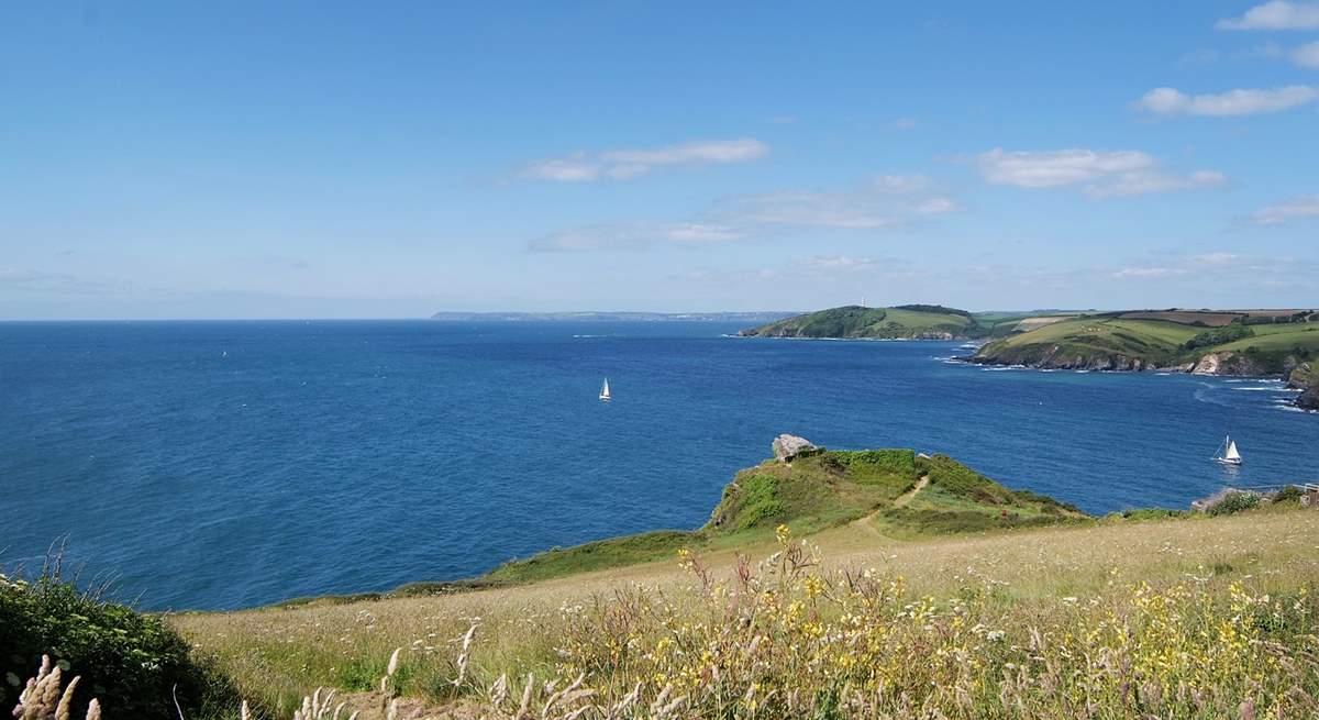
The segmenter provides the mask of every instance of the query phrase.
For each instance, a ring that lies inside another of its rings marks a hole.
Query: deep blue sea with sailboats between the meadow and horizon
[[[470,576],[696,527],[780,433],[947,452],[1089,512],[1319,480],[1281,384],[947,361],[719,323],[0,323],[0,564],[141,607]],[[596,398],[609,378],[613,402]],[[1210,456],[1231,433],[1246,464]]]

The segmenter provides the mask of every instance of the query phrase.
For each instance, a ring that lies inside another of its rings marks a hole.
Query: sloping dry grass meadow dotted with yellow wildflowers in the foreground
[[[516,588],[171,622],[280,717],[311,687],[379,692],[396,647],[390,692],[412,699],[406,716],[468,708],[458,715],[513,717],[526,698],[533,716],[774,717],[834,708],[1045,717],[1138,699],[1144,705],[1101,716],[1137,717],[1157,702],[1158,716],[1211,717],[1245,702],[1307,707],[1319,684],[1306,659],[1319,651],[1306,615],[1306,593],[1319,580],[1319,513],[919,542],[844,526],[811,541],[828,558],[819,567],[799,556],[801,567],[756,571],[723,551],[689,556],[686,567],[666,560]],[[773,542],[744,550],[785,556]],[[773,592],[762,597],[766,588]],[[793,611],[793,603],[801,605]],[[867,603],[873,607],[857,616]],[[865,669],[820,665],[855,655],[855,645],[824,642],[838,637],[873,644]],[[1184,657],[1158,665],[1161,646]],[[1204,658],[1228,650],[1236,659],[1212,665],[1215,675],[1195,674]],[[922,690],[930,682],[946,691]],[[1004,704],[1004,694],[1021,704]]]

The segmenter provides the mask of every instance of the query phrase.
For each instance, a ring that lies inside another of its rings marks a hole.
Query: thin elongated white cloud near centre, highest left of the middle
[[[520,175],[557,182],[629,179],[662,166],[749,162],[766,154],[769,145],[749,137],[699,140],[663,148],[619,149],[595,154],[576,152],[559,158],[534,160],[522,167]]]

